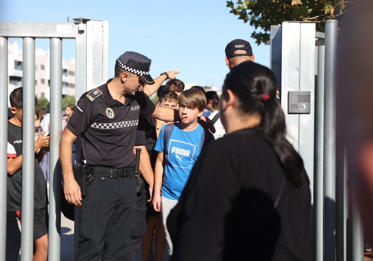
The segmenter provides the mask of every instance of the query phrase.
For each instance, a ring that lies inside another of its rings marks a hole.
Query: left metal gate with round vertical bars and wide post
[[[76,41],[76,101],[109,78],[109,21],[0,21],[0,150],[7,151],[8,38],[23,38],[23,160],[21,260],[31,261],[34,218],[35,38],[50,39],[50,187],[48,260],[60,260],[62,39]],[[0,260],[6,255],[7,157],[0,158]],[[27,186],[25,185],[27,184]]]

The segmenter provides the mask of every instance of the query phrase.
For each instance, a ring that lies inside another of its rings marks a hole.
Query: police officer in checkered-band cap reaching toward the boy
[[[154,84],[150,64],[139,53],[119,56],[114,78],[80,97],[63,132],[64,194],[69,203],[80,206],[75,261],[125,260],[136,207],[133,148],[139,116],[178,119],[173,109],[156,107],[142,92]],[[72,144],[79,135],[80,162],[88,168],[85,197],[71,164]]]

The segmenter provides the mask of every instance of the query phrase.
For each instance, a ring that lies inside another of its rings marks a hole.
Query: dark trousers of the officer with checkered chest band
[[[136,208],[136,179],[95,177],[79,208],[75,261],[125,260]]]

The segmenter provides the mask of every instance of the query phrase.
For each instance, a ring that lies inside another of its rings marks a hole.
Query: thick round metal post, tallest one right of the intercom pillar
[[[325,260],[335,260],[336,53],[338,21],[325,21],[324,206]]]

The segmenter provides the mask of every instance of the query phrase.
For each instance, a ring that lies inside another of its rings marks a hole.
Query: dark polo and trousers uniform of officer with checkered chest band
[[[95,176],[79,208],[79,261],[125,259],[136,207],[135,133],[139,116],[155,110],[142,92],[125,104],[114,100],[111,80],[82,95],[66,126],[82,135],[82,158]]]

